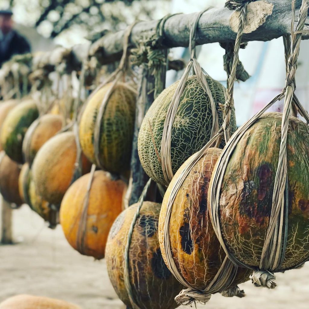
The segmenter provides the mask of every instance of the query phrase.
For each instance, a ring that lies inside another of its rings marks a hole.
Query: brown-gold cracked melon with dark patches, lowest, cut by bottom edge
[[[131,308],[124,284],[124,251],[138,203],[124,210],[108,235],[105,258],[108,276],[119,298]],[[161,204],[144,202],[135,223],[129,248],[129,274],[133,296],[141,309],[173,309],[183,289],[164,264],[158,241]]]

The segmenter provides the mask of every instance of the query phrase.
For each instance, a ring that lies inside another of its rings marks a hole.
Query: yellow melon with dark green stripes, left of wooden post
[[[106,84],[89,98],[79,122],[79,140],[84,154],[107,171],[122,173],[129,169],[136,93],[124,83],[117,83],[107,100],[99,133],[99,162],[95,158],[94,131],[99,108],[112,87]]]

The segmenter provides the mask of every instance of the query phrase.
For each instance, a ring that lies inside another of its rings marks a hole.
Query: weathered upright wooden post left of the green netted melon
[[[165,88],[166,66],[162,67],[158,72],[160,78],[161,89],[157,89],[159,94]],[[142,190],[145,187],[149,176],[145,173],[138,157],[138,133],[142,125],[142,121],[147,110],[155,99],[155,76],[150,73],[150,70],[144,66],[142,68],[142,78],[138,90],[138,99],[136,103],[134,136],[131,156],[131,177],[130,177],[130,196],[129,205],[136,203],[141,196]],[[153,189],[149,190],[155,195],[155,184]],[[151,198],[150,198],[151,199]]]

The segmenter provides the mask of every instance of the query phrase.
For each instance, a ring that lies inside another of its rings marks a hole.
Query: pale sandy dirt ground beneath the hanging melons
[[[83,309],[125,308],[109,282],[104,260],[95,261],[74,251],[61,226],[48,229],[27,205],[14,211],[13,222],[17,244],[0,247],[0,302],[25,293],[63,299]],[[267,290],[246,282],[241,285],[245,298],[216,294],[197,308],[307,309],[309,263],[302,269],[277,274],[277,285]]]

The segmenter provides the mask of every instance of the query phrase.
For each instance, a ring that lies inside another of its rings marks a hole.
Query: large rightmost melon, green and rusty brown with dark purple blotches
[[[220,191],[223,239],[237,259],[258,267],[272,208],[281,113],[266,113],[234,149]],[[288,237],[282,271],[309,258],[309,127],[290,116],[287,135]]]

